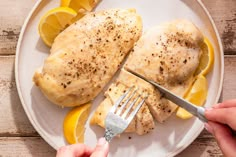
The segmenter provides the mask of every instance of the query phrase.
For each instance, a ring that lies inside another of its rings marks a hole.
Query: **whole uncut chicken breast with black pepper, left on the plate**
[[[93,100],[115,74],[142,33],[133,9],[89,13],[60,33],[33,80],[60,106]]]

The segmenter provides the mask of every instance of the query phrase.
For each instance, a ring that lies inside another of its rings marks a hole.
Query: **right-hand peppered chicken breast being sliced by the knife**
[[[156,26],[136,43],[125,69],[135,71],[182,97],[193,82],[203,40],[198,28],[186,20]],[[176,108],[165,98],[148,105],[159,122],[167,119]]]

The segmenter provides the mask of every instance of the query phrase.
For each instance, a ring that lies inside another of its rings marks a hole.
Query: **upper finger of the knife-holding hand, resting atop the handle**
[[[206,110],[205,116],[209,121],[227,124],[236,130],[236,107]]]

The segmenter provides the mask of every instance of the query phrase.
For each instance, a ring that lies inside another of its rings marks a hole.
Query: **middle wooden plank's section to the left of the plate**
[[[0,57],[0,136],[37,135],[17,94],[14,56]]]

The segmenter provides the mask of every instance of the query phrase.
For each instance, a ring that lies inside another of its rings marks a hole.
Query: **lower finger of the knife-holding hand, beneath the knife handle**
[[[225,125],[215,122],[208,122],[208,125],[223,154],[225,156],[232,156],[235,154],[236,139],[232,136],[230,129]]]

